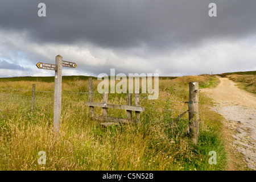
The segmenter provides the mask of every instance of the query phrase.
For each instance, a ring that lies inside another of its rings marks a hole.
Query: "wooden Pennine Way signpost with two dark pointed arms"
[[[55,71],[54,81],[54,113],[53,113],[53,130],[55,133],[60,132],[60,112],[61,112],[61,85],[62,85],[62,67],[76,68],[76,63],[63,61],[63,57],[57,55],[55,64],[41,63],[36,64],[39,69],[48,69]]]

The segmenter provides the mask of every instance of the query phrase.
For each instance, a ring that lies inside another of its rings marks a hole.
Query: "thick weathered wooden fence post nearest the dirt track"
[[[199,83],[189,82],[189,134],[193,143],[199,138]]]

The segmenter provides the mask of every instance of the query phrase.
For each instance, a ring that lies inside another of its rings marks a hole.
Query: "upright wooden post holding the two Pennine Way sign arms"
[[[53,130],[55,133],[60,132],[60,113],[61,113],[61,85],[62,85],[62,64],[63,58],[57,55],[55,58],[57,70],[55,71],[54,82],[54,113],[53,113]]]

